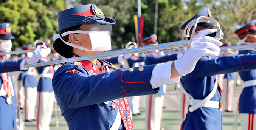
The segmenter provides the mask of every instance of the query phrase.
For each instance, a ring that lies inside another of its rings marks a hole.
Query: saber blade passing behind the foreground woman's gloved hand
[[[239,46],[223,46],[220,47],[222,51],[242,51],[242,50],[250,50],[256,48],[256,44],[251,45],[239,45]],[[178,54],[178,53],[185,53],[185,51],[171,51],[165,52],[164,54]]]

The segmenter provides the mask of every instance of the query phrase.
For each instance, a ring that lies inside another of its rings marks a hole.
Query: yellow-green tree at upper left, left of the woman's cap
[[[47,39],[58,33],[57,12],[65,9],[64,0],[1,0],[0,23],[12,24],[14,50],[18,46]]]

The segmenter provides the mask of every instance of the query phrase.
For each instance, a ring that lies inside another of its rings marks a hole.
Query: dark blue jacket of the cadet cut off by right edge
[[[255,54],[256,51],[239,51],[239,54],[244,54],[244,56],[246,56],[248,53]],[[248,62],[250,62],[252,66],[255,64],[255,60]],[[246,69],[246,67],[244,68]],[[240,71],[239,75],[244,81],[255,80],[256,70]],[[245,87],[243,89],[239,98],[239,113],[256,113],[256,86]]]

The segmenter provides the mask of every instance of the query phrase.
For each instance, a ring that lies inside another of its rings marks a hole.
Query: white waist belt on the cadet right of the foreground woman
[[[202,100],[197,100],[197,99],[189,99],[189,105],[195,105],[195,104],[198,104],[199,102],[201,102]],[[216,108],[216,109],[219,109],[220,108],[220,102],[218,101],[207,101],[205,102],[205,104],[203,104],[202,106],[200,107],[210,107],[210,108]]]

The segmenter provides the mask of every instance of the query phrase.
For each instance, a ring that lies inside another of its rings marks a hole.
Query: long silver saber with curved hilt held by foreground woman
[[[99,59],[103,57],[112,57],[112,56],[119,56],[119,55],[124,55],[124,54],[133,54],[133,53],[142,53],[142,52],[147,52],[147,51],[156,51],[156,50],[165,50],[165,49],[170,49],[170,48],[178,48],[178,47],[185,47],[190,45],[192,42],[192,39],[194,38],[195,29],[196,25],[198,22],[204,22],[204,21],[211,21],[216,24],[217,27],[217,32],[214,38],[216,39],[221,39],[223,38],[223,33],[220,29],[219,23],[211,18],[201,16],[198,17],[196,20],[192,20],[189,22],[189,24],[186,26],[187,34],[185,35],[186,40],[181,40],[181,41],[176,41],[176,42],[169,42],[169,43],[163,43],[160,45],[152,45],[152,46],[143,46],[139,48],[132,48],[132,49],[122,49],[122,50],[115,50],[115,51],[107,51],[101,54],[93,54],[93,55],[88,55],[88,56],[81,56],[81,57],[72,57],[68,59],[61,59],[61,60],[54,60],[54,61],[49,61],[49,62],[41,62],[41,63],[35,63],[35,64],[30,64],[30,65],[25,65],[23,67],[28,68],[28,67],[40,67],[40,66],[48,66],[48,65],[55,65],[55,64],[61,64],[65,62],[76,62],[76,61],[81,61],[81,60],[90,60],[90,59]],[[192,30],[192,35],[190,37],[189,32],[192,28],[192,25],[195,26]],[[219,36],[221,35],[221,36]]]

